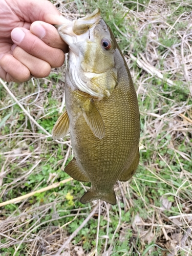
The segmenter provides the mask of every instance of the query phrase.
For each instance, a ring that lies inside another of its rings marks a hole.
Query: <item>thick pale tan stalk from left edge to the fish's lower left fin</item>
[[[52,185],[50,185],[50,186],[47,186],[47,187],[41,188],[41,189],[39,189],[39,190],[33,191],[33,192],[31,192],[31,193],[29,193],[29,194],[26,194],[26,195],[24,195],[24,196],[13,198],[13,199],[11,199],[11,200],[9,200],[9,201],[0,203],[0,207],[5,206],[5,205],[7,205],[7,204],[15,204],[15,203],[18,203],[20,200],[26,199],[26,198],[28,198],[28,197],[32,197],[32,196],[35,195],[36,193],[42,193],[42,192],[47,191],[47,190],[50,190],[50,189],[52,189],[52,188],[56,188],[56,187],[60,186],[60,184],[65,184],[66,182],[71,181],[71,180],[73,180],[73,178],[69,178],[69,179],[66,179],[66,180],[62,180],[62,181],[59,181],[59,182],[57,182],[57,183],[54,183],[54,184],[52,184]]]

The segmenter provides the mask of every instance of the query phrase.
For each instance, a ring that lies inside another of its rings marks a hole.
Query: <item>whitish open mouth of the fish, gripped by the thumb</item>
[[[55,25],[55,27],[61,38],[70,46],[78,40],[77,37],[79,35],[82,36],[82,40],[90,39],[90,35],[93,34],[93,30],[99,24],[100,19],[100,9],[97,8],[93,13],[85,17],[63,25]]]

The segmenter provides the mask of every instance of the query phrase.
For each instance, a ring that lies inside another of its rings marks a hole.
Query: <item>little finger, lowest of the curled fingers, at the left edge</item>
[[[7,82],[25,82],[31,78],[29,69],[11,54],[1,58],[0,66],[1,77]]]

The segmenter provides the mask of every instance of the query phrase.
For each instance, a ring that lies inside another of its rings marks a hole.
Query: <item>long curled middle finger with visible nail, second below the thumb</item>
[[[24,28],[15,28],[11,32],[12,41],[30,55],[45,60],[52,68],[62,66],[65,55],[62,50],[50,47],[40,38]]]

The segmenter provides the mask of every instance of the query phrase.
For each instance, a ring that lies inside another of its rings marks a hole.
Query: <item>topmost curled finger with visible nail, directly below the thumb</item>
[[[65,53],[68,52],[68,45],[61,39],[56,28],[52,25],[45,22],[34,22],[31,24],[30,31],[44,41],[46,45],[62,49]]]

